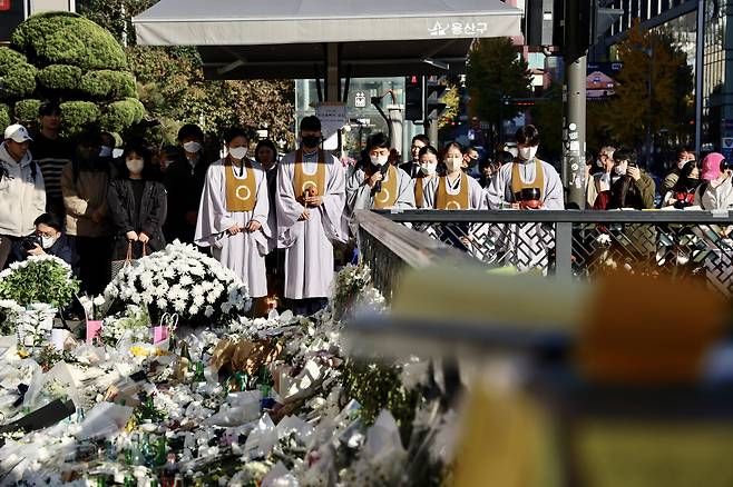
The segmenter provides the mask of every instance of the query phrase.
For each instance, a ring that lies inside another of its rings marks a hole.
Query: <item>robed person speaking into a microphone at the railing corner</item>
[[[356,169],[346,182],[346,207],[353,236],[356,233],[355,210],[414,209],[412,179],[389,163],[389,137],[374,133],[366,142],[366,153],[369,166]]]

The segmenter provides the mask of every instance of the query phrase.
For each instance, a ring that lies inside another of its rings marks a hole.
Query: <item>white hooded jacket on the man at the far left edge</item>
[[[8,153],[4,142],[0,145],[0,235],[32,233],[33,221],[46,211],[43,176],[41,168],[35,162],[31,165],[31,159],[30,152],[26,152],[18,163]]]

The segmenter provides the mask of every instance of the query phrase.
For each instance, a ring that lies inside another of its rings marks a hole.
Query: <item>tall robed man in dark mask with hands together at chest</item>
[[[331,295],[333,242],[346,240],[345,176],[341,162],[319,149],[317,117],[302,120],[300,136],[302,148],[277,168],[277,245],[285,249],[285,298],[304,300],[294,304],[295,311],[312,314]]]

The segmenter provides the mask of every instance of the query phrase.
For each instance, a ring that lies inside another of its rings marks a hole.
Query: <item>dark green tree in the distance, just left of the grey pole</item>
[[[495,138],[500,118],[508,120],[520,113],[515,105],[502,106],[501,98],[529,97],[530,86],[527,61],[510,38],[480,39],[473,43],[466,66],[466,88],[471,97],[469,109],[491,123]]]

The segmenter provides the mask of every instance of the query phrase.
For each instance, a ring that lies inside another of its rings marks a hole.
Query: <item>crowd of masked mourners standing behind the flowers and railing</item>
[[[252,297],[275,294],[314,312],[330,292],[334,246],[353,237],[358,209],[565,209],[560,177],[538,157],[532,126],[517,131],[516,153],[492,158],[455,141],[437,148],[419,135],[404,163],[384,133],[343,163],[321,149],[321,122],[312,116],[301,121],[299,148],[282,158],[271,140],[260,140],[252,155],[240,128],[222,136],[222,157],[203,150],[195,125],[180,128],[177,146],[155,151],[129,140],[117,158],[111,133],[89,130],[74,142],[60,133],[60,110],[50,102],[32,135],[20,125],[4,130],[0,268],[55,255],[89,295],[104,290],[115,262],[177,239],[234,270]],[[604,147],[587,162],[588,208],[654,207],[656,185],[634,150]],[[732,169],[719,153],[697,166],[693,152],[681,150],[659,188],[661,205],[733,206]]]

